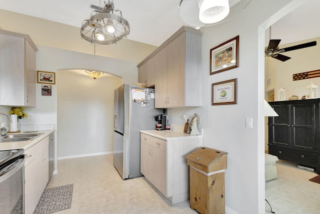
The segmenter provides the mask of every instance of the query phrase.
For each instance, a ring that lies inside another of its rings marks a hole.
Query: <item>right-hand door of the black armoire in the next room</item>
[[[291,147],[315,150],[315,105],[291,105]]]

